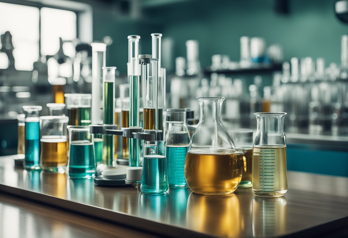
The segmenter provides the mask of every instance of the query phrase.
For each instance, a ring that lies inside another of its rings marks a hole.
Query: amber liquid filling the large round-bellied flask
[[[242,174],[235,154],[196,154],[188,152],[185,177],[193,192],[205,195],[230,194]]]

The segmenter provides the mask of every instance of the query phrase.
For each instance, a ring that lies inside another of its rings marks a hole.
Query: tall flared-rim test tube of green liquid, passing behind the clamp
[[[139,126],[139,35],[128,36],[129,127]],[[139,140],[129,138],[129,166],[139,167]]]

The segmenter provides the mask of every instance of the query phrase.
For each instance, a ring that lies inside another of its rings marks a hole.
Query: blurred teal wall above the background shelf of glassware
[[[163,25],[163,36],[175,40],[175,56],[185,56],[185,41],[200,42],[202,66],[213,54],[239,60],[239,38],[260,36],[280,43],[285,60],[324,57],[340,62],[340,37],[348,33],[334,15],[334,0],[289,0],[290,14],[275,13],[273,0],[191,0],[147,9]],[[170,1],[169,1],[170,2]],[[177,1],[174,1],[177,2]]]

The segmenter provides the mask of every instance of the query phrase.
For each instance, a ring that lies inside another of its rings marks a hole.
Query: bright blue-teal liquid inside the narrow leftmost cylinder
[[[25,169],[40,169],[40,125],[39,118],[25,121]]]

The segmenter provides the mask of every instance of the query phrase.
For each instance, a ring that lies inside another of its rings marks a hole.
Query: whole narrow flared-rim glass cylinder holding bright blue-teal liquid
[[[25,114],[25,169],[40,169],[40,118],[42,106],[23,106]]]

